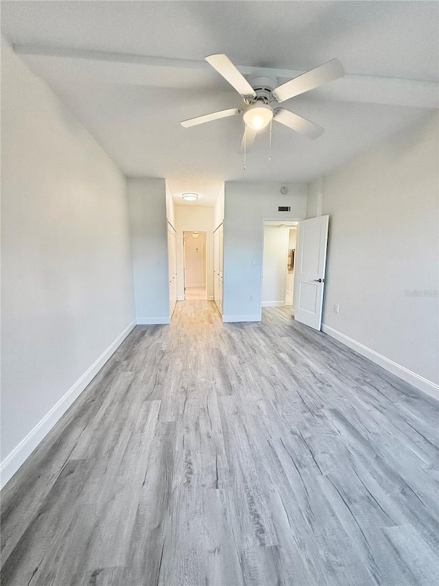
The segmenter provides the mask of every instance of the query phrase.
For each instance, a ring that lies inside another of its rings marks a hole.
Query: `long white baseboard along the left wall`
[[[128,336],[132,328],[136,325],[136,322],[131,322],[126,328],[117,336],[110,346],[99,358],[91,365],[84,374],[69,388],[58,403],[50,409],[50,411],[41,419],[34,429],[27,433],[27,436],[21,440],[21,442],[12,450],[10,454],[0,464],[0,475],[1,475],[1,488],[5,486],[6,482],[12,478],[16,471],[20,468],[21,464],[25,462],[26,458],[31,455],[38,444],[47,436],[47,433],[54,427],[56,422],[61,418],[62,415],[69,409],[73,401],[80,396],[82,391],[86,388],[88,383],[96,376],[101,370],[106,361],[110,359],[112,354],[115,353],[117,348],[121,345],[123,340]]]

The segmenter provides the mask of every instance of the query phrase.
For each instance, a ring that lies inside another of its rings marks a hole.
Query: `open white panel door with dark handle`
[[[294,319],[320,330],[329,216],[302,220],[298,226],[294,275]]]

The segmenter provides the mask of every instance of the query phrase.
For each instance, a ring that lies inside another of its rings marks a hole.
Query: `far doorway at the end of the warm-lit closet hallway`
[[[206,232],[183,232],[185,300],[207,299]]]

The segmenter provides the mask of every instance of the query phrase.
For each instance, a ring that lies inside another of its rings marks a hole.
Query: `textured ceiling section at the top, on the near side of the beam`
[[[20,1],[2,3],[14,43],[435,80],[436,2]]]

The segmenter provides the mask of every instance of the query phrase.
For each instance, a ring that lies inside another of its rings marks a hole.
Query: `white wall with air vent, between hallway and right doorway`
[[[287,195],[281,194],[283,185]],[[291,212],[278,212],[279,205],[290,206]],[[263,220],[300,220],[306,206],[305,183],[226,182],[224,322],[261,319]]]

